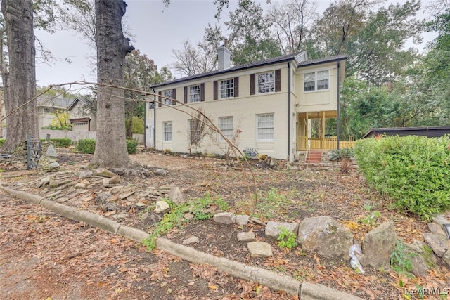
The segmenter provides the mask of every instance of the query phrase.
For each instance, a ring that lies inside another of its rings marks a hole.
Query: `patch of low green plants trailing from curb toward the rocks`
[[[191,212],[194,215],[195,220],[206,220],[212,218],[212,207],[217,207],[221,210],[226,210],[228,204],[220,197],[212,198],[210,194],[206,194],[205,197],[196,198],[190,202],[182,204],[175,204],[170,200],[167,200],[171,209],[169,214],[165,214],[158,226],[156,226],[152,233],[146,240],[143,240],[143,244],[146,245],[148,251],[153,250],[156,247],[156,239],[165,233],[168,233],[172,228],[183,226],[188,220],[184,219],[184,214]]]

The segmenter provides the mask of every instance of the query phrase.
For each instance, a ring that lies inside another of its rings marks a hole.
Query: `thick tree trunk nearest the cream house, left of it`
[[[122,0],[96,0],[97,82],[124,85],[125,56],[133,48],[122,32]],[[126,167],[124,91],[108,86],[97,90],[97,141],[94,166]]]

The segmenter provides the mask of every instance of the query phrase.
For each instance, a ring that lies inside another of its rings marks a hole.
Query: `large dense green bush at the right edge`
[[[450,209],[450,137],[385,136],[355,143],[369,184],[400,209],[430,219]]]

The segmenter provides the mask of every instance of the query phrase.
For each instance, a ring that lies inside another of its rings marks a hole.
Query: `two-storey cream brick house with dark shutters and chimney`
[[[324,129],[325,119],[338,117],[345,55],[308,60],[304,51],[230,67],[230,54],[221,46],[219,70],[151,87],[154,93],[187,107],[155,97],[146,109],[147,146],[189,152],[189,139],[198,133],[193,117],[181,111],[195,107],[227,138],[238,136],[240,150],[257,148],[259,154],[293,161],[310,148],[325,148],[326,133],[320,130],[318,138],[311,138],[310,120],[320,119]],[[224,154],[227,149],[213,133],[191,150]]]

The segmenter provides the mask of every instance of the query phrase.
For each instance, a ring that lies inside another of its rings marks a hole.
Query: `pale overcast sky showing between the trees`
[[[203,39],[208,23],[215,24],[214,14],[217,8],[212,0],[172,0],[167,7],[162,0],[126,0],[128,7],[125,14],[129,30],[134,34],[131,44],[155,61],[158,69],[174,63],[173,49],[181,49],[184,40],[196,43]],[[330,0],[317,1],[318,11],[330,6]],[[388,1],[396,3],[397,1]],[[228,9],[224,8],[219,25],[223,25],[226,15],[236,7],[236,0],[231,0]],[[266,1],[259,1],[266,6]],[[58,58],[48,63],[37,60],[36,78],[39,86],[63,84],[77,80],[96,81],[96,74],[91,70],[89,60],[94,50],[86,41],[70,30],[54,34],[35,31],[34,34],[42,44]],[[430,41],[433,35],[424,37]],[[411,44],[410,46],[414,46]],[[417,46],[416,46],[417,47]],[[176,74],[175,74],[176,75]],[[178,76],[179,77],[179,76]]]

